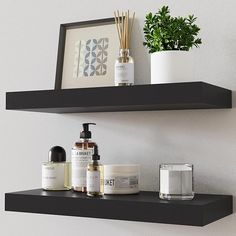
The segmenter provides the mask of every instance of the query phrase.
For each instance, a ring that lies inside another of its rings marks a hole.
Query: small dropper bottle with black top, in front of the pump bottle
[[[94,146],[92,160],[87,167],[87,195],[90,197],[102,196],[104,193],[103,165],[99,163],[98,146]]]

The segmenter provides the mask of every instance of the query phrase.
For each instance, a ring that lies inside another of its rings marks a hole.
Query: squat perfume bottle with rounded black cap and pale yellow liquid
[[[71,189],[71,163],[66,162],[66,152],[60,146],[52,147],[48,153],[48,162],[42,164],[42,188]]]

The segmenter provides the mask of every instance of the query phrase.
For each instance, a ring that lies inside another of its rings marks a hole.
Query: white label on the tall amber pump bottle
[[[87,165],[91,161],[92,149],[72,150],[71,181],[73,187],[86,187]]]

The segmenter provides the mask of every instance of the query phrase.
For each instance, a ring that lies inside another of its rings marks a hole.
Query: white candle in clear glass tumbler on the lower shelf
[[[161,164],[159,167],[159,197],[165,200],[192,200],[193,165]]]

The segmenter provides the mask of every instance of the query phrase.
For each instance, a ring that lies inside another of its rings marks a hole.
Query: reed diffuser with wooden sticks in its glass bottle
[[[130,38],[134,23],[135,13],[132,20],[129,11],[121,14],[115,12],[115,22],[120,41],[120,53],[115,62],[115,85],[130,86],[134,84],[134,60],[130,56]]]

